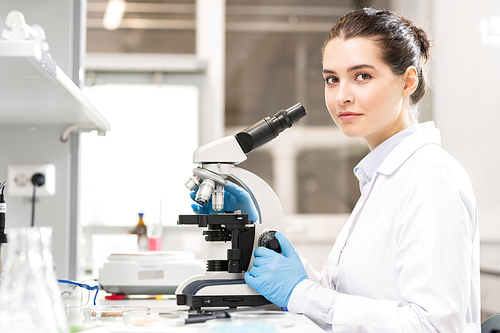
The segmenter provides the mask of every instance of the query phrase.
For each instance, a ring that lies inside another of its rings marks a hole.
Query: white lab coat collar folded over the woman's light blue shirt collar
[[[414,133],[394,147],[377,172],[390,175],[421,147],[428,144],[441,145],[441,133],[433,121],[415,125],[415,128]]]

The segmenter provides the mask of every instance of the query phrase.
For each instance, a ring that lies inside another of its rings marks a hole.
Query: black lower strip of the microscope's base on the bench
[[[187,305],[193,310],[201,308],[237,308],[239,306],[259,306],[271,304],[261,295],[177,295],[177,305]]]

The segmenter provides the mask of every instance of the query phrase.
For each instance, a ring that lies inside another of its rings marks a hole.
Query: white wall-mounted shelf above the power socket
[[[34,42],[0,40],[0,75],[1,124],[91,126],[101,134],[110,129],[80,88]]]

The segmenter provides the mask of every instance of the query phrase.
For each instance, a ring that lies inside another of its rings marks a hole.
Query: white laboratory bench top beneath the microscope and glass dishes
[[[99,292],[96,307],[106,308],[109,306],[146,306],[151,312],[169,313],[175,311],[188,310],[187,306],[178,306],[175,296],[163,296],[161,299],[125,299],[125,300],[107,300],[104,299],[104,293]],[[85,310],[87,308],[87,310]],[[155,326],[128,326],[123,318],[102,318],[89,319],[84,316],[84,310],[88,312],[93,305],[86,305],[85,308],[67,309],[71,332],[84,333],[215,333],[215,332],[274,332],[274,333],[321,333],[324,332],[319,326],[303,315],[290,314],[286,323],[280,321],[270,322],[266,319],[247,320],[237,322],[232,319],[213,319],[204,323],[192,323],[186,325],[155,325]],[[249,310],[249,308],[245,308]],[[246,311],[237,311],[242,314]],[[287,313],[288,314],[288,313]],[[126,315],[126,313],[125,313]],[[281,324],[281,323],[284,324]]]

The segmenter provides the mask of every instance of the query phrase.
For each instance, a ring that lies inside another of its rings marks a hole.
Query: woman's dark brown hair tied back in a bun
[[[363,8],[342,17],[330,30],[323,45],[334,38],[344,40],[365,37],[378,43],[382,59],[396,75],[403,74],[410,66],[418,73],[418,86],[410,96],[417,104],[425,94],[425,64],[430,56],[432,43],[427,33],[411,20],[391,11]]]

